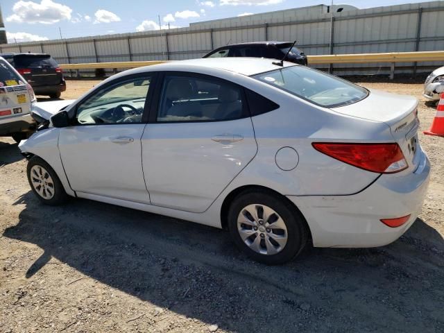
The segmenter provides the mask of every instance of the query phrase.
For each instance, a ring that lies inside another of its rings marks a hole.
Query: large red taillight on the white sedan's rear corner
[[[337,144],[314,142],[325,155],[367,171],[395,173],[407,169],[407,161],[398,144]]]

